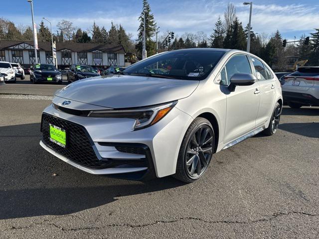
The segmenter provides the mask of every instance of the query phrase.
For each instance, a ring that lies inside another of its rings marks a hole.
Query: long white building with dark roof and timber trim
[[[30,67],[35,63],[33,41],[0,40],[0,61],[20,63]],[[122,45],[57,42],[56,57],[58,68],[72,64],[85,64],[97,67],[125,66],[125,49]],[[51,42],[38,42],[38,63],[52,64]]]

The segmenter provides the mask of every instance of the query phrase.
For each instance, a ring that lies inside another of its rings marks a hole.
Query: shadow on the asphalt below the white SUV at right
[[[311,138],[319,138],[319,123],[282,123],[279,129]]]

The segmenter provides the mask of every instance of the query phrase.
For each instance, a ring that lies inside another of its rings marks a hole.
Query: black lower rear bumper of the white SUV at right
[[[306,93],[283,91],[283,98],[285,103],[293,102],[304,106],[319,106],[319,99]]]

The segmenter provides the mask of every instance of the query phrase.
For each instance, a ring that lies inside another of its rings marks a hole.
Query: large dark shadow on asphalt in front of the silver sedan
[[[146,182],[91,175],[39,145],[39,123],[0,127],[0,220],[66,215],[109,204],[118,197],[185,185],[172,177]]]

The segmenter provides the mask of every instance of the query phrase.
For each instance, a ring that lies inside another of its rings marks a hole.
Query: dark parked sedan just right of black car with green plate
[[[69,83],[95,76],[100,74],[92,66],[87,65],[71,65],[66,75]]]

